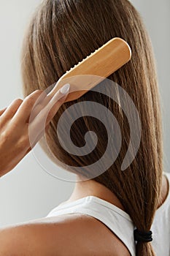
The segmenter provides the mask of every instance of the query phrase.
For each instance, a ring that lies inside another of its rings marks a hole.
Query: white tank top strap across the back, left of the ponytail
[[[134,223],[131,217],[117,206],[93,195],[53,208],[46,217],[63,214],[85,214],[104,223],[125,244],[131,256],[136,255]]]

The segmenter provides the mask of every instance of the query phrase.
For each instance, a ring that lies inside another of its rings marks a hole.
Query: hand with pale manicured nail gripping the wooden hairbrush
[[[68,94],[69,84],[54,96],[37,90],[0,110],[0,177],[18,165],[42,138]]]

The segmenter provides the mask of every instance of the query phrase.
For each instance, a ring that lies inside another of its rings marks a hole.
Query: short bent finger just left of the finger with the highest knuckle
[[[5,120],[11,119],[13,116],[15,116],[16,111],[22,104],[23,99],[15,99],[12,101],[12,103],[9,105],[9,107],[4,111],[4,113],[1,114],[1,118],[4,118]]]

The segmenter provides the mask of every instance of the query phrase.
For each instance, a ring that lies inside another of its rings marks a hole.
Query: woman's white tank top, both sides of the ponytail
[[[164,173],[169,180],[170,173]],[[46,217],[55,217],[62,214],[87,214],[107,225],[128,248],[131,256],[136,255],[134,241],[134,223],[131,217],[112,203],[93,195],[80,198],[70,203],[53,208]],[[170,256],[170,189],[166,200],[156,211],[152,223],[152,246],[157,256]]]

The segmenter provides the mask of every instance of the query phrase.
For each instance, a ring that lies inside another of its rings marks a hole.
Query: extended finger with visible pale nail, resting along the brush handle
[[[45,133],[45,127],[50,123],[58,109],[61,107],[65,101],[67,95],[69,94],[70,85],[66,84],[63,86],[55,96],[50,100],[45,108],[34,118],[34,120],[29,124],[29,136],[31,143],[39,140],[39,135]]]

